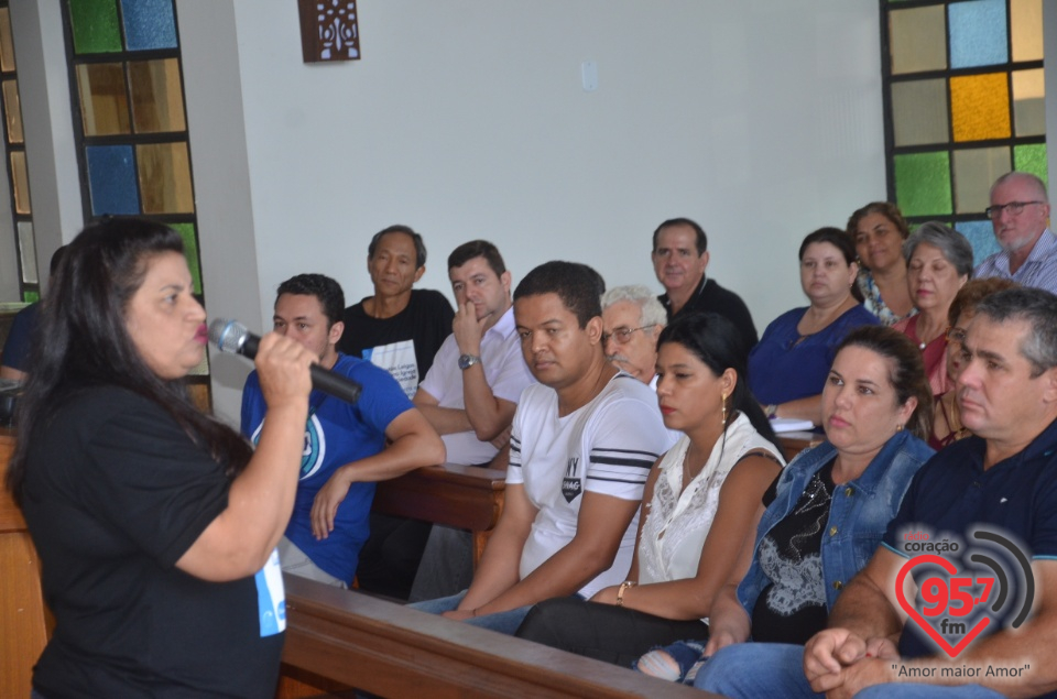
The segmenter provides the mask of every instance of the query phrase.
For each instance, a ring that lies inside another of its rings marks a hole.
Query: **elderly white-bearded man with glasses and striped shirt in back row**
[[[991,186],[987,210],[1002,247],[980,263],[973,276],[998,276],[1057,294],[1057,238],[1047,227],[1049,198],[1042,179],[1012,172]]]

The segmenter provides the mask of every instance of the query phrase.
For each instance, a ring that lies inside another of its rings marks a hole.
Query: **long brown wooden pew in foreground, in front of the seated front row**
[[[284,582],[283,674],[305,693],[280,697],[342,687],[392,699],[716,697],[356,591]]]

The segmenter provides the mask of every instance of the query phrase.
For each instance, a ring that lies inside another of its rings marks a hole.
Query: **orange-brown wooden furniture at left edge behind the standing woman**
[[[0,481],[13,451],[13,433],[0,429]],[[0,484],[0,697],[30,696],[33,666],[51,626],[36,549],[22,511]]]

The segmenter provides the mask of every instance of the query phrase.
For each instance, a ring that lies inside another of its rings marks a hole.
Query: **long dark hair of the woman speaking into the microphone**
[[[17,408],[19,439],[7,485],[18,502],[34,432],[72,396],[92,386],[121,386],[163,406],[232,473],[249,461],[252,450],[246,440],[201,414],[182,380],[155,374],[129,337],[129,302],[151,260],[166,252],[183,254],[179,233],[138,218],[92,223],[66,248],[41,307],[34,361]]]

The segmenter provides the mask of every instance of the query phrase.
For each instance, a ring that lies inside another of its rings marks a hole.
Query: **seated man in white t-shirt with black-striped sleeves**
[[[606,359],[603,286],[571,262],[517,285],[514,319],[540,383],[514,414],[503,514],[469,590],[416,609],[513,633],[536,602],[626,576],[643,484],[671,438],[653,391]]]

